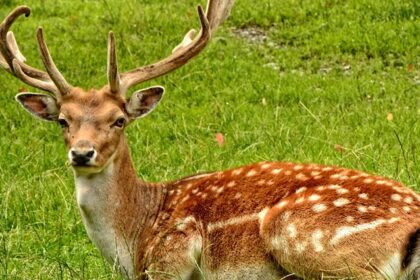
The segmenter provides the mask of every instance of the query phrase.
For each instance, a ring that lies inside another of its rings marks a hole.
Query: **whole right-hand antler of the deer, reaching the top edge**
[[[196,32],[192,29],[168,57],[153,64],[122,73],[121,75],[118,74],[115,40],[111,32],[108,39],[108,81],[111,91],[124,95],[130,87],[162,76],[187,63],[204,49],[219,24],[229,15],[232,5],[233,0],[208,0],[205,14],[202,7],[198,6],[201,30],[195,38],[194,35]]]

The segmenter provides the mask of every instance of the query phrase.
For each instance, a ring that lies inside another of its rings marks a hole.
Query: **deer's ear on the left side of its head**
[[[57,100],[52,96],[23,92],[16,95],[15,98],[26,111],[35,117],[46,121],[56,121],[58,119]]]

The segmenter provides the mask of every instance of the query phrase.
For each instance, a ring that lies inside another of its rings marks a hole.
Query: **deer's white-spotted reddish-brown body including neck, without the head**
[[[420,264],[420,197],[393,180],[262,162],[149,184],[125,140],[117,154],[76,176],[77,201],[90,238],[130,278],[405,279]]]

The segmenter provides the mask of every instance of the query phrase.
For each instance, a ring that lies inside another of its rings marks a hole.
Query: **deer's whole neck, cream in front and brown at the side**
[[[164,202],[164,187],[136,176],[126,139],[100,173],[75,173],[77,204],[90,239],[123,273],[146,248],[148,232]]]

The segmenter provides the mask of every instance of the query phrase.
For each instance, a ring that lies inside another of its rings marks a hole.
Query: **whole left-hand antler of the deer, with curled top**
[[[19,50],[13,32],[9,31],[14,21],[21,15],[28,17],[31,10],[26,6],[17,7],[0,24],[0,66],[24,83],[55,94],[60,100],[71,86],[55,66],[44,41],[42,28],[38,29],[37,39],[41,58],[47,73],[25,64],[25,57]]]

